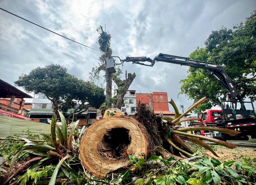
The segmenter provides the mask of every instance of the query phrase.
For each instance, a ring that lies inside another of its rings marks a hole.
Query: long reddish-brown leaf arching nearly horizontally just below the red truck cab
[[[198,130],[207,130],[207,131],[219,131],[221,133],[229,134],[231,136],[240,134],[241,132],[235,131],[235,130],[229,130],[226,128],[221,127],[205,127],[205,126],[190,126],[190,127],[183,127],[178,129],[181,132],[188,132],[188,131],[198,131]]]

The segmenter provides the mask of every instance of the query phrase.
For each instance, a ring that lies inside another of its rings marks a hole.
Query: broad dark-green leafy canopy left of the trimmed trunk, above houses
[[[99,108],[105,101],[103,88],[79,80],[67,73],[67,68],[57,64],[37,67],[29,74],[22,74],[15,84],[24,87],[27,92],[45,94],[53,102],[56,115],[58,109],[66,112],[72,108],[73,100],[80,104],[75,109],[76,117],[85,112],[89,106]]]

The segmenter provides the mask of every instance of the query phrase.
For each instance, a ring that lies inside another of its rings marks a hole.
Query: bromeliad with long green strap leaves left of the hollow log
[[[51,136],[46,134],[40,134],[41,138],[43,139],[43,142],[32,142],[29,139],[25,139],[26,144],[24,144],[22,147],[20,147],[15,156],[11,160],[10,164],[10,177],[6,180],[4,184],[9,182],[13,177],[17,176],[20,172],[25,171],[28,169],[32,174],[34,174],[31,177],[36,176],[36,170],[42,168],[43,166],[46,166],[47,164],[58,162],[58,164],[55,167],[55,170],[52,173],[52,177],[50,180],[50,185],[55,184],[56,176],[58,174],[59,169],[61,168],[65,175],[69,177],[69,179],[74,180],[78,179],[78,174],[73,170],[68,162],[65,160],[68,158],[71,158],[73,161],[75,158],[78,159],[78,148],[73,145],[72,140],[74,139],[74,131],[75,127],[77,126],[79,120],[77,120],[71,130],[68,134],[68,128],[66,125],[66,120],[63,114],[61,112],[58,112],[61,119],[61,125],[58,126],[56,124],[56,115],[53,115],[52,120],[48,120],[49,123],[51,123]],[[33,154],[37,157],[34,157],[30,160],[28,160],[26,163],[24,163],[20,169],[16,170],[14,173],[12,173],[13,165],[17,159],[17,156],[20,154]],[[72,156],[72,157],[71,157]],[[79,161],[79,159],[78,159]],[[34,173],[33,173],[34,172]],[[25,175],[28,172],[25,173]],[[38,173],[40,174],[40,173]],[[31,174],[28,174],[29,177]],[[40,174],[42,175],[42,174]],[[43,176],[43,175],[42,175]],[[20,184],[26,184],[27,178],[20,178],[19,182]],[[36,180],[35,180],[36,181]]]

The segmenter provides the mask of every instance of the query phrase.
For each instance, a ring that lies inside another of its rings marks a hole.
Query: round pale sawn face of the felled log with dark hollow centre
[[[129,155],[147,156],[150,151],[148,134],[137,120],[111,116],[96,120],[80,142],[82,165],[98,178],[117,170],[127,170]]]

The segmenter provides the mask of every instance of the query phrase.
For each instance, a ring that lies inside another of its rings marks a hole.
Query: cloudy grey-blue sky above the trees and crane
[[[112,35],[113,56],[147,56],[158,53],[188,56],[202,46],[211,30],[244,21],[254,9],[255,0],[215,1],[89,1],[89,0],[1,0],[0,7],[25,19],[93,48],[98,33],[106,25]],[[0,10],[0,79],[13,83],[22,73],[51,63],[88,80],[100,52],[78,45]],[[192,104],[185,96],[177,98],[187,76],[186,66],[157,63],[154,67],[124,64],[135,72],[130,89],[149,93],[166,91],[177,105]],[[100,84],[100,82],[96,82]]]

